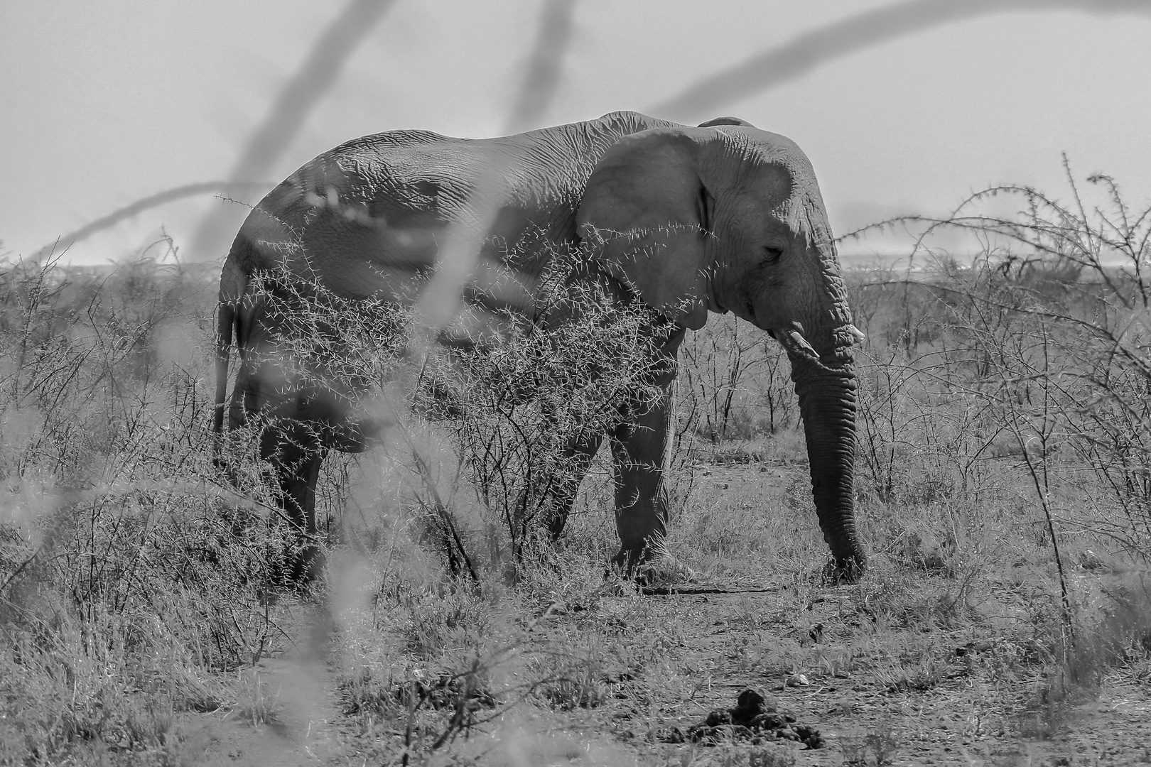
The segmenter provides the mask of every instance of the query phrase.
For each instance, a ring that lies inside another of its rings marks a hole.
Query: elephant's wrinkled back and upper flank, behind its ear
[[[269,192],[231,259],[245,274],[287,266],[345,298],[406,302],[435,268],[452,223],[485,218],[488,198],[497,210],[480,273],[511,269],[532,292],[549,245],[576,241],[576,210],[596,162],[620,136],[656,123],[664,121],[612,113],[503,138],[425,130],[355,138]]]

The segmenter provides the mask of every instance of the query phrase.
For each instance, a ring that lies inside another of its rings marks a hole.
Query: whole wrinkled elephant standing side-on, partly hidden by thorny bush
[[[473,198],[493,176],[498,194],[485,218]],[[672,363],[654,382],[660,401],[622,412],[607,434],[572,446],[586,467],[603,437],[611,440],[616,563],[633,570],[666,554],[663,474],[673,434],[676,355],[687,330],[702,328],[709,312],[732,312],[786,351],[815,509],[831,552],[829,574],[838,582],[862,575],[852,351],[861,333],[852,324],[810,161],[784,136],[735,117],[692,126],[616,112],[488,139],[390,131],[319,155],[269,192],[223,264],[214,431],[221,434],[226,409],[229,428],[257,413],[276,417],[279,425],[260,437],[260,455],[274,467],[280,501],[295,526],[315,532],[315,483],[326,451],[365,450],[379,442],[383,427],[356,421],[344,404],[268,374],[256,352],[274,343],[280,323],[253,299],[253,281],[284,269],[349,300],[382,296],[411,305],[450,228],[460,222],[483,230],[473,281],[506,260],[509,243],[529,243],[541,259],[548,258],[544,245],[581,246],[586,274],[620,298],[638,299],[661,321],[651,332],[660,333],[660,353]],[[525,274],[517,310],[529,314],[532,269],[517,268]],[[470,316],[466,332],[458,331],[459,322],[443,323],[439,340],[473,343],[497,313],[481,307]],[[239,369],[229,404],[234,342]],[[311,428],[317,424],[325,428]],[[572,500],[557,503],[554,534],[562,531]]]

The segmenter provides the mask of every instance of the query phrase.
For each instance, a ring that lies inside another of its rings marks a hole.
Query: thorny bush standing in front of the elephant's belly
[[[539,550],[557,499],[574,496],[586,469],[571,447],[663,396],[653,382],[670,365],[660,353],[670,323],[617,297],[586,262],[555,253],[534,278],[533,310],[495,310],[474,345],[436,343],[418,306],[344,300],[284,271],[257,282],[250,300],[276,319],[281,340],[268,353],[287,377],[387,424],[383,453],[409,477],[429,539],[453,573],[479,581],[481,550],[495,568]],[[505,268],[493,282],[519,278]],[[464,315],[485,302],[470,296]],[[427,420],[439,444],[426,439]]]

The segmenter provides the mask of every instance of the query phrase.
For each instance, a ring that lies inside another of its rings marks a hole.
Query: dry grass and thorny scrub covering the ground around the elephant
[[[1023,214],[976,195],[927,222],[977,230],[969,262],[925,239],[929,268],[849,275],[872,552],[854,586],[820,581],[786,360],[727,317],[678,385],[669,546],[696,582],[604,572],[602,457],[541,544],[558,450],[642,381],[648,319],[589,290],[549,333],[455,360],[432,422],[396,405],[428,377],[368,331],[386,307],[318,315],[300,359],[374,386],[397,425],[330,457],[326,578],[276,588],[297,544],[252,440],[231,482],[211,461],[214,269],[8,262],[0,764],[1151,759],[1145,718],[1090,713],[1145,708],[1151,678],[1151,216],[1093,183],[1102,210],[1003,189]],[[742,685],[826,747],[665,742]]]

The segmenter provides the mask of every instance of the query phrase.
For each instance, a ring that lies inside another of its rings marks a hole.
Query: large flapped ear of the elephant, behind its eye
[[[577,212],[580,237],[645,302],[693,330],[708,319],[704,238],[714,205],[683,129],[626,136],[603,155]]]

